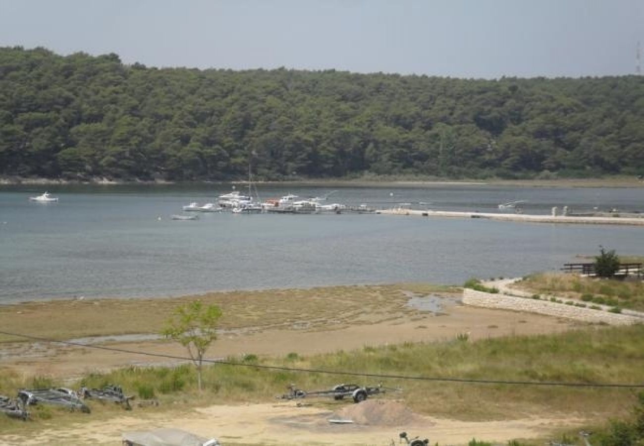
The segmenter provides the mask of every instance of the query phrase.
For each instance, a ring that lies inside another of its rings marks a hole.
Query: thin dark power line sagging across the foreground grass
[[[32,336],[30,334],[10,333],[8,331],[0,331],[0,334],[6,334],[8,336],[17,336],[19,338],[36,340],[40,342],[52,342],[52,343],[64,344],[64,345],[73,345],[75,347],[84,347],[88,349],[99,349],[99,350],[115,351],[119,353],[140,354],[142,356],[154,356],[156,358],[166,358],[166,359],[174,359],[174,360],[185,360],[185,361],[191,360],[191,358],[187,356],[176,356],[173,354],[151,353],[151,352],[145,352],[145,351],[120,349],[117,347],[107,347],[106,345],[88,345],[88,344],[81,344],[80,342],[72,342],[72,341],[57,341],[49,338],[43,338],[40,336]],[[206,362],[209,364],[225,364],[225,365],[231,365],[234,367],[253,367],[255,369],[278,370],[278,371],[287,371],[287,372],[294,372],[294,373],[320,373],[320,374],[331,374],[331,375],[342,375],[342,376],[362,376],[362,377],[368,377],[368,378],[382,378],[382,379],[396,379],[396,380],[457,382],[457,383],[466,383],[466,384],[549,385],[549,386],[559,386],[559,387],[609,387],[609,388],[612,387],[612,388],[627,388],[627,389],[644,388],[644,383],[637,384],[637,383],[582,383],[582,382],[559,382],[559,381],[475,380],[470,378],[444,378],[444,377],[436,377],[436,376],[408,376],[408,375],[397,375],[397,374],[334,371],[334,370],[325,370],[325,369],[305,369],[302,367],[285,367],[281,365],[249,364],[245,362],[233,362],[233,361],[227,361],[222,359],[209,359],[209,358],[204,358],[203,362]]]

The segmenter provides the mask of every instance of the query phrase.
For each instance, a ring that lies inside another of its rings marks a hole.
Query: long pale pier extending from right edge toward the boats
[[[486,218],[506,222],[529,223],[558,223],[558,224],[621,224],[630,226],[644,226],[643,217],[576,217],[573,215],[529,215],[529,214],[502,214],[484,212],[459,212],[459,211],[419,211],[415,209],[383,209],[376,211],[386,215],[416,215],[418,217],[447,217],[447,218]]]

